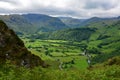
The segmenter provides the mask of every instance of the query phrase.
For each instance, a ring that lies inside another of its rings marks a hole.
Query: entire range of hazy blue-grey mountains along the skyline
[[[52,32],[67,28],[87,27],[94,23],[112,24],[120,20],[119,17],[113,18],[99,18],[92,17],[90,19],[75,19],[71,17],[51,17],[43,14],[12,14],[0,15],[8,27],[13,29],[17,34],[34,34],[41,32]]]

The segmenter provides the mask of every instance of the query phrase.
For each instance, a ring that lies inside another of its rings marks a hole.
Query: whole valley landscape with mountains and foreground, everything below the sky
[[[72,20],[28,14],[0,18],[6,23],[0,24],[1,80],[120,79],[119,17]]]

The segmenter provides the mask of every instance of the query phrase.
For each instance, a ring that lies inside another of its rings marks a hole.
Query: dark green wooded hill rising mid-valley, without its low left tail
[[[58,40],[69,41],[82,41],[88,40],[90,35],[94,32],[94,29],[89,28],[76,28],[53,32],[49,38]]]

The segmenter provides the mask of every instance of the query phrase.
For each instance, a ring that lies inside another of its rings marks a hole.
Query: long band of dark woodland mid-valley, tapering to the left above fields
[[[82,41],[88,40],[90,35],[95,31],[91,28],[75,28],[59,30],[54,32],[44,32],[37,35],[31,35],[31,39],[54,39],[54,40],[69,40]]]

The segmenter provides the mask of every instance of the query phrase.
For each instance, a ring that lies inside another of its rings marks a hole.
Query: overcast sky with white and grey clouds
[[[0,14],[40,13],[77,18],[120,16],[120,0],[0,0]]]

